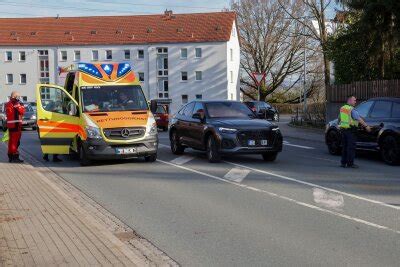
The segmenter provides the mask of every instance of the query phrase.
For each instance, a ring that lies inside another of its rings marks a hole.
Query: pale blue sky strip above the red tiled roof
[[[0,17],[96,16],[217,12],[230,0],[0,0]],[[334,1],[332,1],[334,2]],[[333,8],[328,12],[332,18]]]

